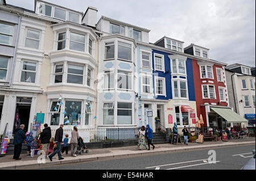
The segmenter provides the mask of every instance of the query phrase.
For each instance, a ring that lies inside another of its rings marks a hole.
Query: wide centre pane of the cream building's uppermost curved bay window
[[[85,35],[71,32],[69,49],[84,52],[85,51]]]

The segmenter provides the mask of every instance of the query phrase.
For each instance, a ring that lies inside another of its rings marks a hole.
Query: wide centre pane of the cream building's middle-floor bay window
[[[68,64],[68,83],[82,84],[84,66]]]

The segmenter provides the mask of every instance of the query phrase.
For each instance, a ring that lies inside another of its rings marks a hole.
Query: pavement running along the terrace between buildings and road
[[[131,156],[142,156],[151,154],[166,154],[174,153],[180,150],[195,150],[195,149],[208,149],[208,148],[221,148],[222,146],[234,146],[234,145],[255,145],[255,137],[229,140],[226,141],[205,141],[204,144],[200,143],[188,143],[188,145],[171,145],[171,144],[156,144],[155,149],[152,150],[138,150],[137,146],[125,146],[120,148],[105,148],[105,149],[90,149],[89,153],[83,153],[72,157],[70,154],[63,154],[63,160],[59,161],[57,154],[53,157],[53,161],[49,159],[43,159],[43,156],[35,155],[35,158],[27,157],[26,154],[20,155],[22,158],[20,161],[14,161],[13,155],[6,155],[0,157],[0,169],[27,169],[34,167],[43,167],[48,165],[61,165],[66,163],[80,163],[97,161],[104,159],[118,159],[127,158]]]

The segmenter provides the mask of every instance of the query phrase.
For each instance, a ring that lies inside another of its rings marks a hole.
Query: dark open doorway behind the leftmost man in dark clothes
[[[25,125],[24,132],[28,131],[32,98],[17,98],[14,118],[14,132],[21,124]]]

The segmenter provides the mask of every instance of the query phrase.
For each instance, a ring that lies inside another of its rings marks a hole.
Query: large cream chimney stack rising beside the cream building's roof
[[[85,23],[88,26],[96,27],[97,11],[96,7],[88,6],[82,18],[82,24]]]

